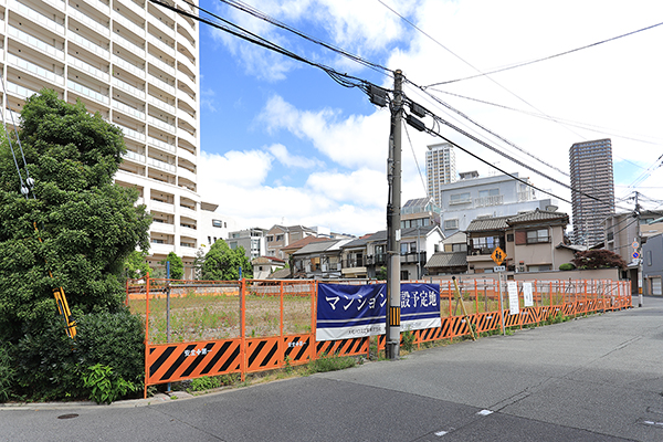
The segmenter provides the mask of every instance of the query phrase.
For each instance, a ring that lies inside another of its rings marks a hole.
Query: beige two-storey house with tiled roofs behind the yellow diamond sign
[[[502,265],[507,271],[557,270],[573,259],[573,250],[564,246],[568,223],[568,214],[539,209],[511,217],[477,218],[466,231],[469,273],[492,273],[496,248],[506,254]]]

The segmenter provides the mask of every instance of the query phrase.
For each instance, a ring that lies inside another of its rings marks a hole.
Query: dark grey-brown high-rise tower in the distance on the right
[[[575,241],[591,246],[603,241],[603,220],[614,213],[612,143],[576,143],[569,149],[569,164],[576,190],[571,192]]]

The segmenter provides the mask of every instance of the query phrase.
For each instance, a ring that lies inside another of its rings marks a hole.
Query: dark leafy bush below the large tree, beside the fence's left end
[[[90,398],[92,390],[84,380],[88,377],[87,368],[95,365],[110,367],[113,379],[141,386],[145,372],[141,320],[127,309],[113,314],[76,313],[75,317],[78,332],[75,340],[66,336],[62,319],[54,315],[25,327],[13,356],[14,394],[33,400]]]

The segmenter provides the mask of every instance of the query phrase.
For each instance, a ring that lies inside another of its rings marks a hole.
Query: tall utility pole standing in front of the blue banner
[[[403,114],[403,73],[393,73],[393,103],[387,180],[387,324],[385,352],[398,359],[400,350],[400,210],[401,210],[401,119]]]

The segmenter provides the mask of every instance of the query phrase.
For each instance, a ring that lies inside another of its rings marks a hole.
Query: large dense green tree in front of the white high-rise
[[[136,190],[113,183],[126,151],[119,128],[49,90],[27,99],[21,119],[27,168],[12,144],[23,180],[35,181],[29,198],[7,138],[0,149],[0,340],[14,343],[56,314],[53,287],[75,315],[118,312],[126,259],[148,250],[151,222]]]

